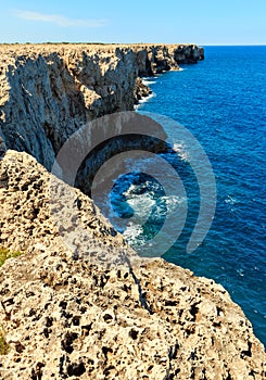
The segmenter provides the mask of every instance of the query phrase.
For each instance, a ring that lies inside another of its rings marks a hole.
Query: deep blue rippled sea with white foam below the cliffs
[[[186,242],[199,212],[199,189],[186,159],[177,164],[185,187],[191,188],[188,205],[192,210],[164,258],[221,283],[266,345],[266,47],[205,47],[203,62],[181,68],[145,78],[153,97],[137,112],[168,116],[193,134],[213,166],[217,205],[205,240],[187,253]],[[180,155],[186,152],[180,150]],[[157,213],[154,208],[144,228],[124,229],[135,245],[149,238],[163,217],[162,202],[167,199],[162,192],[160,200],[156,186],[134,173],[114,187],[113,205],[119,215],[126,213],[125,202],[129,208],[140,202],[144,213],[154,202],[160,208]],[[166,203],[170,202],[174,206],[173,199]]]

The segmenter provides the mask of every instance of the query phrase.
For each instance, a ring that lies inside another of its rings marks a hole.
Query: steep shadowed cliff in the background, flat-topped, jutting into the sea
[[[134,110],[139,76],[198,62],[197,46],[0,46],[0,136],[48,169],[86,122]]]

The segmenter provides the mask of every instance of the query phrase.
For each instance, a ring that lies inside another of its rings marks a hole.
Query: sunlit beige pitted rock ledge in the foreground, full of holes
[[[1,379],[265,379],[263,345],[223,287],[138,258],[26,153],[8,151],[0,178],[0,244],[25,252],[0,269]]]

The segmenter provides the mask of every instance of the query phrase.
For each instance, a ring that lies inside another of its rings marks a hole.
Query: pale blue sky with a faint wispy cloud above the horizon
[[[0,42],[266,45],[266,0],[0,0]]]

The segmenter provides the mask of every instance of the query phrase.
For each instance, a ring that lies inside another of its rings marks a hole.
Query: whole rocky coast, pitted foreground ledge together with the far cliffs
[[[90,198],[49,173],[87,122],[128,111],[118,128],[138,124],[141,77],[203,58],[193,45],[0,46],[0,249],[21,253],[0,267],[1,379],[266,378],[264,346],[221,286],[140,258]],[[84,164],[81,189],[110,154]]]

